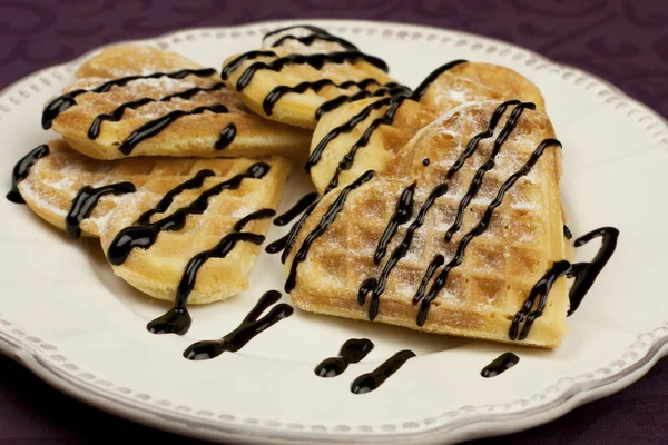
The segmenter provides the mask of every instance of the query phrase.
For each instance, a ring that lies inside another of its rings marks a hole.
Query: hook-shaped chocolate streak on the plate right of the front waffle
[[[573,313],[578,310],[578,307],[580,307],[580,303],[582,303],[584,295],[587,295],[591,288],[591,285],[593,285],[593,281],[615,253],[615,249],[617,248],[619,230],[615,227],[601,227],[600,229],[592,230],[576,239],[574,246],[583,246],[593,238],[598,237],[602,238],[602,243],[593,259],[590,263],[573,264],[571,271],[568,274],[569,277],[576,278],[569,291],[569,316],[573,315]]]

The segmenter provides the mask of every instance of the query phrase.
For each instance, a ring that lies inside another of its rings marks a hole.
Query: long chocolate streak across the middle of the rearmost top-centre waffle
[[[263,56],[263,55],[261,55]],[[243,56],[240,56],[243,57]],[[255,57],[246,57],[244,60],[254,59]],[[285,57],[279,57],[277,59],[272,60],[268,63],[265,62],[254,62],[252,63],[244,73],[237,80],[236,89],[237,91],[242,91],[244,88],[250,83],[253,77],[257,71],[261,70],[272,70],[272,71],[281,71],[287,65],[310,65],[313,68],[320,70],[325,66],[325,63],[355,63],[358,61],[365,61],[367,63],[373,65],[374,67],[387,72],[387,63],[383,60],[379,59],[374,56],[369,56],[360,51],[336,51],[336,52],[326,52],[326,53],[315,53],[315,55],[289,55]],[[227,67],[225,67],[227,68]],[[227,75],[232,72],[232,70],[225,70]],[[225,78],[224,78],[225,79]]]

